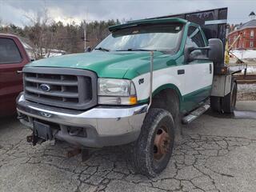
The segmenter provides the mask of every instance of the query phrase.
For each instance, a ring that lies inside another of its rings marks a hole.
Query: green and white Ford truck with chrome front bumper
[[[28,141],[34,145],[54,139],[85,148],[131,143],[135,169],[154,176],[170,160],[180,122],[210,105],[234,110],[236,83],[223,63],[222,41],[206,38],[194,22],[150,18],[110,32],[90,53],[26,65],[18,118],[33,130]]]

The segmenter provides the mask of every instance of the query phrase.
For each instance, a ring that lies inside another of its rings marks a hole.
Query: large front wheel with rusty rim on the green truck
[[[170,160],[173,147],[174,118],[166,110],[150,109],[134,145],[135,170],[150,177],[161,173]]]

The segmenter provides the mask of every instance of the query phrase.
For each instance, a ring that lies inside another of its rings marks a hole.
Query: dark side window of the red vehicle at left
[[[22,62],[22,56],[14,40],[0,38],[0,64]]]

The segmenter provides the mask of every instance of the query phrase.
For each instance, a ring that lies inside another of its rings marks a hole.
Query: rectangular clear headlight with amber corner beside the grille
[[[98,78],[98,103],[105,105],[136,104],[134,83],[127,79]]]

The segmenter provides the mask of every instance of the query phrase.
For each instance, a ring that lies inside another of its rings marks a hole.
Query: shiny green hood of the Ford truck
[[[161,52],[154,52],[154,58],[161,55]],[[45,58],[30,62],[27,66],[76,68],[92,70],[103,78],[134,78],[142,73],[143,68],[149,68],[149,63],[149,51],[93,51]],[[130,73],[127,74],[128,71]]]

